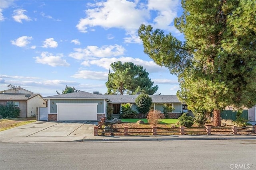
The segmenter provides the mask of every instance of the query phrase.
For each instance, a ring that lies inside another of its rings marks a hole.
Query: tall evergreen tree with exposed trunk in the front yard
[[[180,100],[213,111],[220,126],[224,107],[256,104],[256,1],[182,0],[182,8],[174,25],[185,41],[141,25],[144,52],[178,76]]]

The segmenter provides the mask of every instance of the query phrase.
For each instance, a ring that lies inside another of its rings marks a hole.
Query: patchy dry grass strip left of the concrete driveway
[[[35,122],[35,117],[0,119],[0,131]]]

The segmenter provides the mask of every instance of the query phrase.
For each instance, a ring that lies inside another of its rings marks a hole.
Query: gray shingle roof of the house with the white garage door
[[[149,95],[153,103],[181,103],[176,95]],[[96,99],[109,99],[112,103],[135,103],[138,95],[102,95],[92,94],[88,92],[74,92],[67,94],[60,94],[55,96],[44,97],[44,99],[53,98],[96,98]]]

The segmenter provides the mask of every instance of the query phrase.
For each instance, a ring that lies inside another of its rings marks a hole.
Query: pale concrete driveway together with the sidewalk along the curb
[[[1,143],[256,139],[256,135],[94,136],[98,122],[36,121],[0,132]]]

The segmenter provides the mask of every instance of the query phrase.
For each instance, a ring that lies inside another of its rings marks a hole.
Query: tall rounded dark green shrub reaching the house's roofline
[[[152,98],[148,96],[148,94],[140,94],[135,99],[135,104],[138,108],[138,111],[142,113],[142,117],[146,117],[146,113],[150,110],[150,106],[152,104]]]

